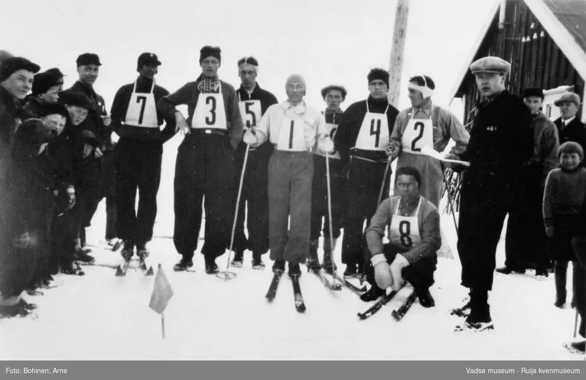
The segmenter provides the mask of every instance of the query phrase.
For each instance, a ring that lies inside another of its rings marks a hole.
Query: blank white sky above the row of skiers
[[[409,106],[406,80],[430,75],[434,101],[448,94],[495,0],[411,0],[399,108]],[[199,50],[222,49],[220,79],[240,86],[237,60],[255,56],[261,87],[279,101],[284,82],[300,73],[306,101],[322,109],[319,90],[348,90],[346,108],[368,95],[366,74],[389,69],[394,0],[29,0],[3,2],[0,49],[42,67],[59,67],[65,85],[77,79],[76,58],[97,53],[103,66],[95,89],[108,110],[114,94],[137,76],[137,58],[152,52],[163,63],[157,83],[173,92],[200,73]],[[458,115],[459,117],[460,115]]]

